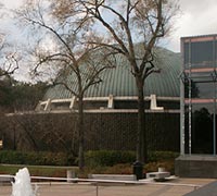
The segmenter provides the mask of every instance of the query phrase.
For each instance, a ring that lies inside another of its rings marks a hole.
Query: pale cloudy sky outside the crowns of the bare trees
[[[16,9],[22,5],[23,0],[0,0],[4,5],[3,11]],[[173,32],[168,37],[161,41],[162,47],[171,51],[180,52],[180,38],[186,36],[197,36],[206,34],[217,34],[217,2],[216,0],[179,0],[180,13],[173,23]],[[20,30],[11,23],[10,15],[4,14],[0,21],[0,33],[5,32],[16,46],[20,42]],[[27,77],[24,71],[20,70],[23,79]]]

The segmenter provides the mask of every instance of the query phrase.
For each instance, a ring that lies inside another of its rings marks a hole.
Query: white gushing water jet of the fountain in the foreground
[[[37,187],[33,189],[30,184],[30,175],[27,168],[20,169],[12,183],[11,196],[37,196]]]

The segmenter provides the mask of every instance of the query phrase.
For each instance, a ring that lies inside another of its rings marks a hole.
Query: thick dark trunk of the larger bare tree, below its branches
[[[145,133],[145,111],[143,82],[137,78],[138,88],[138,132],[137,132],[137,161],[145,163],[146,161],[146,133]]]

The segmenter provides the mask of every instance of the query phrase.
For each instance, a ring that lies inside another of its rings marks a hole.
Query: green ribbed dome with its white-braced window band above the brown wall
[[[179,112],[179,74],[180,54],[164,48],[156,48],[155,68],[157,73],[152,73],[145,81],[144,100],[146,112]],[[103,62],[102,62],[103,63]],[[73,75],[67,75],[72,89],[77,87]],[[85,94],[85,110],[90,111],[133,111],[137,109],[136,79],[131,74],[128,60],[116,54],[115,69],[108,69],[101,74],[102,82],[90,86]],[[77,109],[77,100],[64,86],[51,87],[37,111],[65,111]]]

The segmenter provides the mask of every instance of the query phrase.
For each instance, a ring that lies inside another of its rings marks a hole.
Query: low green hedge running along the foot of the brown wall
[[[174,160],[178,156],[178,152],[173,151],[150,151],[145,163]],[[132,164],[135,161],[135,151],[90,150],[85,152],[85,163],[87,167],[112,167],[122,163]],[[73,157],[72,155],[65,152],[0,150],[0,163],[29,166],[76,166],[77,162],[77,157]]]

